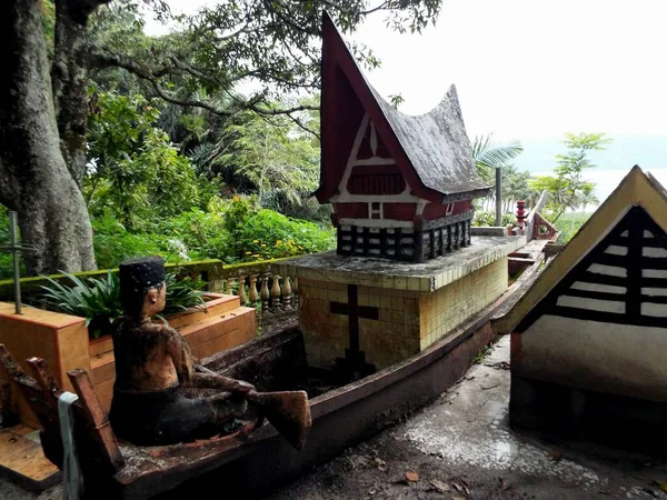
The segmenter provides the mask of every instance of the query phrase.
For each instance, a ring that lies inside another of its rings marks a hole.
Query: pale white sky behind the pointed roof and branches
[[[169,3],[191,12],[215,1]],[[421,36],[389,30],[380,13],[352,39],[379,57],[369,81],[386,98],[401,93],[402,112],[429,111],[455,83],[470,138],[492,132],[528,147],[585,131],[667,141],[666,21],[667,0],[442,0],[436,27]],[[618,156],[623,170],[600,164],[591,173],[601,199],[635,161]],[[651,161],[667,183],[667,156]]]

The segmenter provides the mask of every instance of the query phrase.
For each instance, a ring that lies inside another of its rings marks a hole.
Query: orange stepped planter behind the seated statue
[[[166,317],[186,339],[196,358],[239,346],[256,337],[255,309],[240,306],[235,296],[207,293],[207,309]],[[72,391],[67,372],[74,368],[87,370],[100,401],[111,403],[116,364],[111,337],[89,340],[86,320],[76,316],[23,307],[14,313],[14,304],[0,302],[0,343],[7,346],[14,359],[29,372],[24,362],[30,357],[43,358],[64,390]],[[0,378],[11,380],[0,367]],[[27,403],[12,390],[12,406],[21,421],[31,427],[39,422]]]

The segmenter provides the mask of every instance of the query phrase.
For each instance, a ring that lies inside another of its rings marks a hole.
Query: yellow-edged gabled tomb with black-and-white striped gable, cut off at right
[[[512,426],[665,450],[667,192],[635,167],[499,323]]]

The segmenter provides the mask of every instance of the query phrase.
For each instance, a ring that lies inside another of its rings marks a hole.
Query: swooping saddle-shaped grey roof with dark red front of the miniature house
[[[368,83],[342,37],[325,12],[322,20],[322,164],[316,196],[326,202],[342,178],[354,131],[368,113],[382,142],[415,193],[435,202],[486,196],[491,186],[477,177],[454,86],[430,112],[408,116]]]

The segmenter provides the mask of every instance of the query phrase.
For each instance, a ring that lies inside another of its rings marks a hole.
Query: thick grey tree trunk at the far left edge
[[[19,212],[30,274],[94,269],[83,197],[60,150],[39,0],[0,2],[0,202]]]

